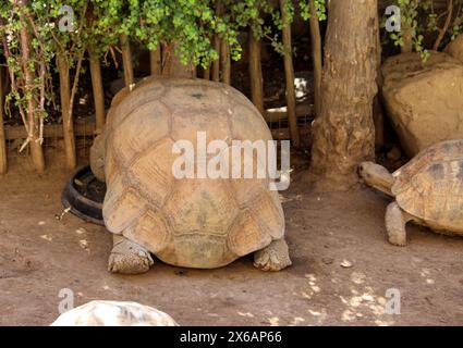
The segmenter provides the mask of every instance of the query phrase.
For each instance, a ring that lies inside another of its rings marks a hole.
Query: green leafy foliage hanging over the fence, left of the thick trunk
[[[220,2],[220,3],[219,3]],[[19,5],[21,3],[22,5]],[[60,30],[64,5],[73,10],[74,29]],[[81,63],[89,48],[98,55],[112,52],[122,34],[147,49],[158,45],[174,47],[183,63],[208,66],[218,59],[212,47],[215,35],[230,46],[232,59],[241,58],[240,30],[251,26],[257,37],[268,37],[279,49],[278,36],[265,26],[261,14],[270,15],[281,27],[280,10],[270,0],[5,0],[0,3],[0,52],[7,58],[13,88],[7,101],[25,114],[35,100],[36,120],[47,115],[53,104],[50,66],[57,55],[81,73]],[[218,9],[222,9],[218,11]],[[293,13],[289,1],[289,13]],[[22,64],[21,28],[31,37],[29,62]],[[34,75],[33,88],[26,88],[25,69]],[[26,90],[27,89],[27,90]],[[23,117],[26,125],[27,121]],[[42,122],[42,121],[41,121]]]

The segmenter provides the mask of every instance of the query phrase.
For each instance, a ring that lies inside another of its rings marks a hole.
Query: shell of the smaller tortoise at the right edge
[[[431,228],[463,232],[463,140],[436,144],[392,175],[404,211]]]

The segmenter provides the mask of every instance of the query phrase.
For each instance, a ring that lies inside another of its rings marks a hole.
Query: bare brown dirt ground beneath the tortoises
[[[293,265],[282,272],[258,271],[248,257],[210,271],[156,261],[147,274],[122,276],[107,272],[103,227],[56,219],[66,178],[19,167],[0,178],[1,325],[50,324],[62,288],[75,306],[133,300],[181,325],[463,324],[463,238],[410,226],[410,245],[390,246],[389,199],[368,188],[320,196],[296,182],[284,191]],[[385,313],[389,288],[401,293],[401,314]]]

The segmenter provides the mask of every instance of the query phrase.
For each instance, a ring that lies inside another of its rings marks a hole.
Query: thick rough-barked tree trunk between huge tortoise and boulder
[[[313,124],[312,174],[320,190],[358,182],[357,165],[375,157],[377,0],[331,0],[321,114]]]

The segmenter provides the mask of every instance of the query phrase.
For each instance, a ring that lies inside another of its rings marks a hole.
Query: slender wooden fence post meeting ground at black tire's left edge
[[[60,100],[61,116],[63,119],[64,151],[66,157],[66,166],[72,170],[76,166],[74,122],[71,116],[71,83],[69,76],[69,63],[65,57],[57,55],[58,72],[60,75]],[[77,72],[78,74],[78,72]]]

